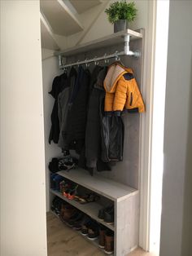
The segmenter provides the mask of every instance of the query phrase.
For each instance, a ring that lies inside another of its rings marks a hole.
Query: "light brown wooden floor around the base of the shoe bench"
[[[106,256],[71,227],[61,223],[54,214],[47,214],[48,256]],[[129,256],[156,256],[136,249]]]

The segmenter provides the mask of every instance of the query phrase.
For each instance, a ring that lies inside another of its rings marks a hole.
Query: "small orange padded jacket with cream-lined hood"
[[[105,111],[120,114],[124,108],[129,112],[145,112],[142,95],[131,68],[119,63],[111,64],[104,80]]]

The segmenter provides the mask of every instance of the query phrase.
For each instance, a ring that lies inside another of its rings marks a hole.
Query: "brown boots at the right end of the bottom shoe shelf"
[[[113,254],[114,251],[114,232],[107,227],[101,226],[99,229],[98,246],[103,248],[106,254]]]

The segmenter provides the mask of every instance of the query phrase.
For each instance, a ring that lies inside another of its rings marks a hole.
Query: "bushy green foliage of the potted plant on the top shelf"
[[[117,20],[135,20],[137,8],[134,2],[113,2],[105,12],[109,22],[114,24]]]

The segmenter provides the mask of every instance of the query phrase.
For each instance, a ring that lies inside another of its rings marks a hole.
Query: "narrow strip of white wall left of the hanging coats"
[[[52,88],[53,79],[62,73],[59,70],[59,63],[56,57],[50,57],[42,60],[42,82],[43,82],[43,105],[44,105],[44,128],[45,128],[45,151],[46,151],[46,210],[50,210],[50,195],[49,195],[49,169],[48,164],[52,157],[59,157],[61,150],[57,144],[51,142],[49,144],[50,135],[50,113],[52,112],[54,105],[54,98],[48,94]]]

